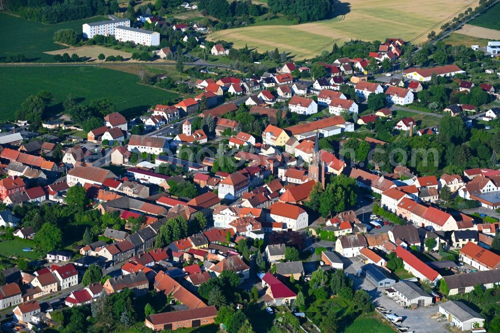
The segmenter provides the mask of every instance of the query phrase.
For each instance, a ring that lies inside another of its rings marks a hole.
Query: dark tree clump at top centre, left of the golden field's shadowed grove
[[[249,17],[260,16],[266,13],[266,8],[250,0],[232,1],[227,0],[200,0],[198,8],[206,11],[210,16],[222,21],[232,20],[236,17],[248,19]]]

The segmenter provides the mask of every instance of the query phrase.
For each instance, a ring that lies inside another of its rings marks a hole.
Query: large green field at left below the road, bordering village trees
[[[22,101],[41,89],[54,95],[50,113],[61,111],[68,94],[82,103],[109,98],[128,117],[141,114],[153,104],[177,98],[175,93],[138,84],[137,75],[93,66],[0,66],[0,82],[0,119],[12,119]]]

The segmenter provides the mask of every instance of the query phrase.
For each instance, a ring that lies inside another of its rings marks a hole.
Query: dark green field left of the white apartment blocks
[[[44,54],[65,48],[53,42],[54,32],[71,28],[81,33],[81,24],[107,19],[96,16],[77,21],[57,24],[43,24],[0,12],[2,33],[0,33],[0,58],[9,54],[22,53],[30,61],[52,61],[52,55]]]

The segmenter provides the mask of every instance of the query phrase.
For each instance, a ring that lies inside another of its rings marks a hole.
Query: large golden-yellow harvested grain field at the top
[[[297,25],[274,24],[271,19],[259,22],[267,22],[266,25],[217,31],[208,38],[230,41],[235,47],[248,44],[260,52],[277,47],[295,59],[310,58],[324,49],[330,50],[334,42],[342,44],[356,38],[385,40],[392,36],[420,43],[431,30],[438,31],[444,22],[478,3],[478,0],[351,0],[336,2],[336,16],[330,19]]]

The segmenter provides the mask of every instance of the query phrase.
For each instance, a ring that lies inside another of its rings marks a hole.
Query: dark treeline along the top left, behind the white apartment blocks
[[[7,10],[15,12],[22,18],[47,24],[59,23],[90,17],[94,15],[111,14],[118,10],[116,0],[75,0],[75,1],[45,1],[45,0],[12,0],[7,1]]]

